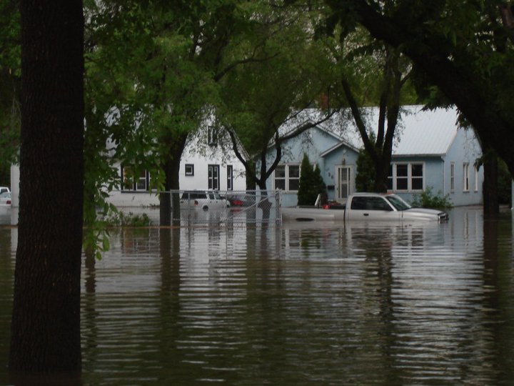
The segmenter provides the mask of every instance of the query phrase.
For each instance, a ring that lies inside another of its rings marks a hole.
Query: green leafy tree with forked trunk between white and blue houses
[[[266,189],[266,180],[281,161],[282,143],[317,123],[298,117],[305,109],[321,107],[320,97],[333,84],[329,58],[308,28],[311,17],[302,8],[271,7],[258,14],[260,44],[250,46],[256,61],[233,69],[221,85],[216,106],[219,123],[228,131],[234,152],[246,165],[246,178],[256,181],[261,189]],[[318,114],[319,122],[330,114]],[[291,124],[291,131],[279,131],[295,120],[297,124]],[[243,156],[241,147],[258,159],[257,171]],[[270,148],[275,152],[271,160]]]

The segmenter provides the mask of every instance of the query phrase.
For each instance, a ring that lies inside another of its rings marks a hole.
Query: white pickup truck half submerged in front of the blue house
[[[337,208],[282,208],[283,221],[448,221],[448,213],[413,208],[396,194],[356,193]]]

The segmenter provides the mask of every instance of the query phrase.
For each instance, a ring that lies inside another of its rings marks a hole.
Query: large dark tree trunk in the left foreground
[[[81,369],[82,1],[21,0],[18,249],[9,368]]]

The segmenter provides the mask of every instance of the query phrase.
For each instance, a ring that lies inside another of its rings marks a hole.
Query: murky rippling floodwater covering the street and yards
[[[83,385],[513,385],[510,211],[121,229],[111,244],[84,258]],[[1,364],[15,249],[0,228]]]

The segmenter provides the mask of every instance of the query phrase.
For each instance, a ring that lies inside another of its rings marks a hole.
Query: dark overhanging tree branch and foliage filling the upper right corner
[[[418,71],[419,85],[435,85],[473,125],[483,149],[494,149],[514,174],[514,23],[506,1],[326,0],[328,31],[358,24],[398,47]],[[432,94],[437,94],[432,88]]]

